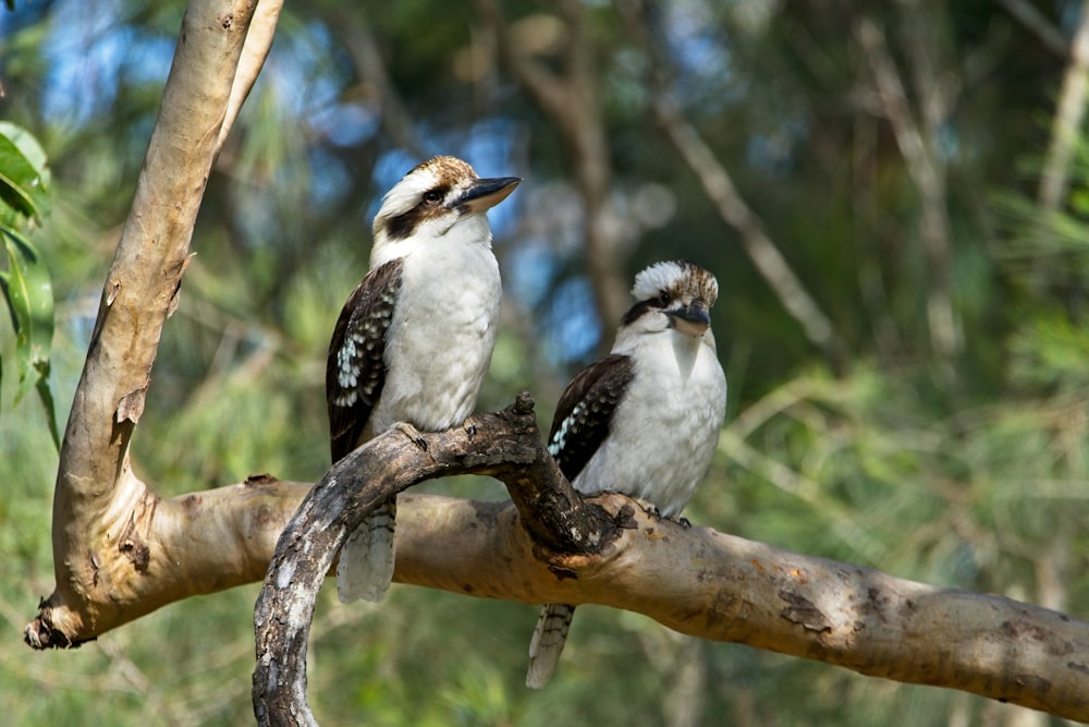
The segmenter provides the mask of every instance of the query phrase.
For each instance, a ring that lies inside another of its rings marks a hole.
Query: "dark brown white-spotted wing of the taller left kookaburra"
[[[402,260],[367,274],[348,295],[329,342],[326,402],[329,446],[337,462],[359,446],[386,383],[386,336],[401,290]]]

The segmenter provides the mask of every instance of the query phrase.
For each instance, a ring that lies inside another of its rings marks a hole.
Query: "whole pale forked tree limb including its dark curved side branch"
[[[478,473],[502,480],[513,504],[406,495],[395,580],[521,603],[628,609],[707,640],[1089,719],[1089,623],[685,530],[619,495],[586,501],[543,449],[527,396],[475,415],[475,427],[423,435],[426,451],[400,432],[377,437],[313,487],[258,475],[172,499],[156,495],[132,472],[130,441],[225,120],[256,77],[278,12],[276,2],[211,0],[194,0],[186,12],[65,431],[54,497],[57,585],[26,629],[32,646],[78,645],[268,571],[255,610],[255,708],[261,722],[313,723],[309,617],[346,533],[394,492]],[[677,683],[696,689],[703,678],[680,675]],[[670,712],[677,724],[692,718]]]

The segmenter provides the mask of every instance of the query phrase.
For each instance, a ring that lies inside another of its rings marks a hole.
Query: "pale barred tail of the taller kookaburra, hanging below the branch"
[[[337,565],[337,596],[341,603],[379,602],[393,580],[393,533],[396,496],[382,502],[347,536]]]

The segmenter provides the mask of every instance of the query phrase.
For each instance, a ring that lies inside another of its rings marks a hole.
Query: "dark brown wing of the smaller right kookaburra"
[[[613,412],[634,376],[631,358],[611,354],[580,371],[560,397],[548,450],[568,482],[604,441]]]

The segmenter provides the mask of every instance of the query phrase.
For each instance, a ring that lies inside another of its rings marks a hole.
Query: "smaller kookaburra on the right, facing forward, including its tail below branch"
[[[632,294],[609,355],[560,397],[548,451],[580,493],[619,492],[649,502],[652,516],[680,518],[725,419],[726,377],[710,328],[719,286],[702,267],[671,260],[639,272]],[[570,604],[541,608],[530,689],[552,678],[574,613]]]

